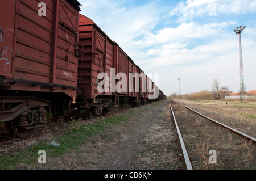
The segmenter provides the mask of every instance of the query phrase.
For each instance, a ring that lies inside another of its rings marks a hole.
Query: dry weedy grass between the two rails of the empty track
[[[238,136],[203,117],[173,106],[193,169],[255,169],[254,142]],[[213,118],[214,119],[214,118]],[[217,163],[209,163],[209,151],[217,153]]]

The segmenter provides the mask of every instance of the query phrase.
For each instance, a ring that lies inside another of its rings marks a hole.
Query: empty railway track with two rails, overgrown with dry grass
[[[237,131],[236,129],[233,129],[233,128],[231,128],[231,127],[228,127],[227,125],[224,125],[224,124],[222,124],[222,123],[219,123],[218,121],[216,121],[216,120],[213,120],[213,119],[211,119],[211,118],[209,118],[209,117],[207,117],[207,116],[205,116],[205,115],[203,115],[203,114],[201,114],[200,112],[197,112],[197,111],[195,111],[195,110],[192,110],[191,108],[189,108],[189,107],[187,107],[187,106],[184,106],[183,104],[180,104],[180,103],[177,103],[177,102],[175,102],[174,100],[169,100],[169,104],[170,104],[170,109],[171,109],[171,113],[172,113],[172,117],[174,118],[174,122],[175,122],[175,125],[176,125],[176,130],[177,130],[177,133],[178,133],[178,136],[179,136],[179,140],[180,140],[180,145],[181,145],[181,149],[182,149],[182,151],[183,151],[183,161],[184,161],[184,163],[185,163],[185,167],[188,169],[188,170],[192,170],[192,166],[191,166],[191,163],[193,164],[193,165],[195,165],[198,161],[193,161],[192,159],[191,159],[191,155],[189,155],[188,153],[189,153],[189,149],[192,149],[194,152],[195,152],[195,147],[192,147],[191,145],[193,145],[193,146],[197,146],[197,150],[199,149],[199,144],[198,143],[195,143],[195,142],[193,142],[193,138],[194,138],[194,140],[203,140],[203,138],[199,138],[199,137],[196,137],[195,136],[195,133],[187,133],[187,135],[185,136],[185,140],[184,140],[184,138],[183,138],[183,133],[184,132],[187,132],[187,131],[191,131],[191,130],[189,130],[189,129],[193,129],[193,128],[188,128],[188,126],[187,125],[189,125],[189,124],[196,124],[196,122],[193,122],[193,123],[191,123],[191,120],[190,120],[190,122],[188,121],[186,121],[186,120],[184,120],[184,119],[187,119],[188,117],[183,117],[183,118],[181,118],[181,119],[183,119],[183,122],[182,123],[180,123],[181,122],[181,120],[180,120],[180,116],[178,116],[179,117],[179,119],[176,119],[176,117],[175,117],[175,112],[176,112],[176,114],[177,114],[177,112],[180,112],[180,111],[175,111],[174,110],[174,104],[178,104],[178,105],[180,105],[180,109],[183,109],[182,111],[183,111],[183,114],[187,114],[187,112],[185,112],[185,110],[189,110],[188,112],[190,112],[189,114],[194,114],[194,115],[199,115],[199,116],[201,116],[201,117],[203,117],[203,118],[201,118],[202,120],[204,120],[204,119],[207,119],[208,120],[208,124],[212,124],[212,123],[210,123],[210,122],[213,122],[213,123],[216,123],[216,125],[214,126],[214,130],[212,131],[212,133],[210,133],[210,134],[208,134],[208,135],[210,135],[209,136],[209,138],[207,138],[207,140],[206,141],[201,141],[201,142],[204,142],[202,145],[203,146],[201,146],[201,148],[202,148],[202,150],[203,150],[203,147],[205,146],[205,145],[207,145],[206,147],[207,147],[207,151],[208,151],[208,149],[209,149],[209,147],[211,147],[210,145],[208,145],[208,142],[211,142],[212,140],[213,140],[213,137],[215,137],[215,138],[217,138],[216,140],[218,140],[218,137],[222,137],[223,136],[223,133],[214,133],[214,131],[216,131],[216,127],[220,127],[220,128],[218,128],[218,129],[222,129],[222,130],[224,130],[223,128],[225,128],[225,129],[228,129],[230,132],[228,132],[227,130],[225,131],[222,131],[222,132],[224,132],[224,134],[226,134],[227,136],[225,136],[225,138],[224,138],[224,141],[222,141],[222,142],[229,142],[230,140],[229,140],[229,138],[231,137],[231,136],[233,136],[233,133],[235,133],[235,134],[237,134],[237,137],[241,137],[241,138],[235,138],[234,140],[242,140],[242,138],[243,138],[243,140],[247,140],[247,142],[249,142],[247,145],[251,145],[251,146],[255,146],[255,142],[256,142],[256,140],[255,140],[255,138],[253,138],[253,137],[251,137],[251,136],[249,136],[249,135],[247,135],[247,134],[245,134],[245,133],[242,133],[242,132],[240,132],[240,131]],[[175,105],[176,106],[176,105]],[[184,108],[183,108],[184,107]],[[193,112],[193,113],[192,113]],[[181,114],[181,113],[180,113]],[[191,117],[191,119],[199,119],[199,118],[197,118],[198,116],[195,116],[195,117],[193,117],[193,116],[189,116],[189,117]],[[205,122],[207,122],[207,121],[205,121]],[[180,126],[181,127],[183,127],[183,128],[179,128],[179,126],[178,126],[178,124],[180,124]],[[212,125],[214,125],[214,124],[212,124]],[[194,125],[194,127],[195,127],[195,125]],[[204,137],[203,136],[203,132],[205,132],[204,131],[204,128],[205,127],[209,127],[208,125],[207,126],[205,126],[204,125],[204,127],[202,127],[202,128],[197,128],[197,129],[199,129],[199,130],[197,130],[197,134],[200,134],[200,136],[202,136],[202,137]],[[223,127],[223,128],[222,128]],[[184,128],[187,128],[187,130],[185,130],[184,131]],[[181,130],[181,131],[180,131]],[[182,135],[181,135],[182,134]],[[191,139],[189,138],[189,137],[191,137]],[[196,138],[195,138],[196,137]],[[189,140],[190,139],[190,140]],[[189,140],[189,141],[188,141]],[[192,141],[191,141],[192,140]],[[249,141],[248,141],[249,140]],[[185,142],[185,144],[184,144],[184,142]],[[205,144],[205,142],[206,142],[206,144]],[[231,142],[231,141],[230,141]],[[245,142],[245,141],[243,141],[243,142]],[[222,143],[221,143],[222,144]],[[219,145],[221,145],[221,144],[219,144]],[[232,145],[232,144],[230,144],[230,143],[228,143],[229,145]],[[254,144],[254,145],[253,145]],[[190,146],[190,148],[186,148],[186,146],[185,145],[189,145]],[[237,146],[237,145],[242,145],[241,144],[241,142],[236,142],[235,144],[233,144],[234,146]],[[225,147],[224,146],[224,144],[223,145],[221,145],[222,147]],[[221,150],[221,151],[219,151],[219,154],[220,154],[220,152],[222,153],[222,154],[224,154],[224,150],[222,150],[222,148],[221,148],[221,146],[220,147],[218,147],[218,149],[219,150]],[[214,146],[213,146],[213,148],[214,148]],[[231,147],[230,147],[231,148]],[[237,148],[234,148],[233,150],[235,150],[235,153],[234,153],[234,157],[237,157],[237,153],[236,153],[236,150]],[[188,151],[187,151],[188,150]],[[230,151],[231,150],[231,151]],[[233,155],[233,152],[232,152],[232,149],[230,149],[229,151],[226,151],[229,155]],[[249,150],[249,149],[248,149]],[[193,153],[193,151],[190,151],[190,153]],[[253,155],[255,154],[255,148],[253,147],[252,148],[252,151],[250,151],[250,154],[252,153]],[[243,151],[240,151],[241,153],[243,153]],[[241,157],[249,157],[248,155],[250,155],[250,154],[247,154],[246,156],[241,156]],[[252,159],[254,160],[254,156],[251,156],[251,157],[253,157]],[[190,158],[190,159],[189,159]],[[222,155],[221,155],[221,158],[222,158]],[[194,157],[194,159],[195,159],[195,157]],[[230,160],[232,159],[231,157],[229,158]],[[233,158],[234,159],[234,158]],[[237,158],[236,158],[237,159]],[[232,161],[228,161],[228,162],[232,162]],[[207,165],[208,163],[208,160],[206,160],[206,159],[204,159],[204,161],[203,161],[203,163],[204,163],[204,165]],[[222,162],[225,162],[225,161],[221,161],[221,163]],[[242,161],[242,162],[244,162],[244,161]],[[202,163],[202,164],[203,164]],[[242,164],[244,164],[244,163],[242,163]],[[209,164],[208,164],[209,165]],[[230,165],[232,165],[232,163],[230,164]],[[212,166],[213,167],[213,166]],[[239,167],[239,166],[238,166]],[[254,167],[255,168],[255,163],[253,163],[252,164],[252,166],[251,167]]]

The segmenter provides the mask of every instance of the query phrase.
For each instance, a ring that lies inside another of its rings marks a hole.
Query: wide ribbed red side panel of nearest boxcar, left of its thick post
[[[47,18],[38,15],[36,1],[20,1],[15,48],[15,79],[50,82],[53,2],[47,3]]]

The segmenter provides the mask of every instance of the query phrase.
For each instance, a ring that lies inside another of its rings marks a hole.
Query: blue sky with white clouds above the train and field
[[[212,90],[239,92],[241,33],[246,91],[256,90],[255,0],[79,0],[96,23],[167,96]],[[157,76],[156,76],[157,77]],[[178,78],[180,81],[178,81]],[[180,89],[179,89],[180,85]]]

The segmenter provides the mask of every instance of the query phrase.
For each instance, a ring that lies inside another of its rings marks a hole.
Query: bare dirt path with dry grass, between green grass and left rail
[[[90,137],[79,149],[46,164],[16,165],[16,169],[181,169],[176,130],[168,101],[135,108],[133,118]]]

